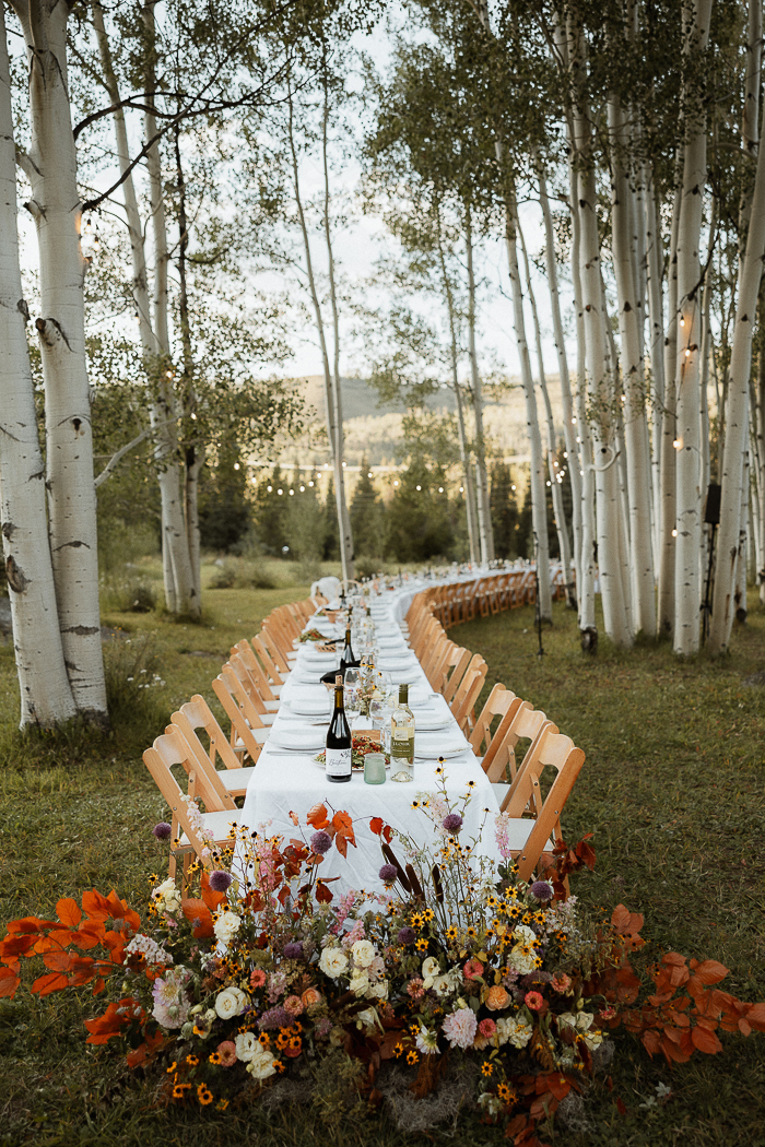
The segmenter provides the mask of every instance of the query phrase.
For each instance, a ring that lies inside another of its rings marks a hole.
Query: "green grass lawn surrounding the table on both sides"
[[[213,575],[206,571],[208,584]],[[58,897],[92,885],[114,887],[140,906],[147,873],[164,864],[150,829],[165,816],[142,749],[192,694],[212,701],[210,681],[231,645],[306,588],[208,590],[200,625],[107,611],[104,624],[126,634],[107,650],[115,701],[107,738],[81,729],[21,738],[13,648],[0,647],[0,922],[45,915]],[[666,645],[620,653],[606,641],[596,657],[586,656],[576,617],[562,606],[544,633],[542,658],[530,608],[455,627],[451,637],[486,657],[486,692],[504,681],[587,755],[563,824],[570,841],[594,832],[598,865],[575,877],[573,891],[609,910],[623,902],[645,913],[643,936],[659,950],[720,960],[731,969],[723,988],[765,999],[765,688],[743,684],[765,669],[765,614],[750,616],[719,662],[681,663]],[[147,682],[156,684],[138,689]],[[93,1002],[87,990],[0,1001],[0,1147],[422,1141],[377,1115],[329,1106],[323,1122],[297,1108],[201,1117],[157,1106],[150,1085],[126,1074],[116,1052],[85,1045],[81,1023]],[[765,1036],[723,1041],[724,1055],[670,1069],[618,1036],[612,1092],[601,1076],[586,1102],[588,1125],[559,1125],[549,1141],[765,1144]],[[659,1083],[672,1098],[653,1106]],[[432,1141],[507,1142],[500,1129],[470,1116]]]

